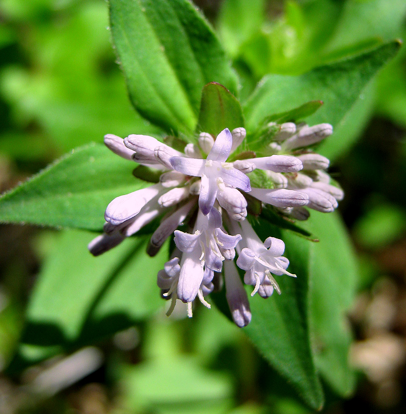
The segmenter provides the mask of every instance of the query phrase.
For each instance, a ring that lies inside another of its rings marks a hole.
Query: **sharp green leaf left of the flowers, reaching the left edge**
[[[115,197],[150,185],[132,175],[136,164],[104,145],[73,150],[0,197],[0,222],[102,230]]]

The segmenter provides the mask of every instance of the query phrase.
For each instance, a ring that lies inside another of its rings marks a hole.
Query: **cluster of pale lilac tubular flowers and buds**
[[[328,159],[309,149],[332,133],[330,125],[268,127],[274,133],[261,157],[239,151],[247,149],[244,128],[225,129],[215,139],[202,132],[183,152],[151,136],[129,135],[123,140],[106,135],[111,151],[160,175],[158,183],[117,197],[107,206],[104,234],[89,244],[90,252],[104,253],[160,217],[147,251],[154,256],[174,234],[176,249],[158,273],[162,295],[171,299],[167,314],[177,299],[188,304],[189,316],[196,297],[210,308],[205,297],[222,285],[224,277],[233,320],[246,326],[251,312],[237,266],[245,272],[244,282],[254,286],[251,296],[258,292],[267,298],[274,290],[280,294],[274,276],[296,276],[286,270],[283,241],[261,241],[255,233],[247,220],[247,199],[304,220],[309,216],[305,207],[330,212],[343,197],[325,172]],[[258,173],[266,178],[265,188],[258,184]],[[178,230],[181,225],[187,231]]]

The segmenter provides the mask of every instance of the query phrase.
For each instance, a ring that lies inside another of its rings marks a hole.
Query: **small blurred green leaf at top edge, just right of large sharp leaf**
[[[222,43],[231,56],[264,22],[264,0],[225,0],[217,21],[217,30]]]

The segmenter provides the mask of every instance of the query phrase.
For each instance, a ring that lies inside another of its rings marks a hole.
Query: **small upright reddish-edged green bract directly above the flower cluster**
[[[211,82],[203,88],[198,132],[217,136],[225,128],[244,127],[243,111],[237,98],[223,85]]]

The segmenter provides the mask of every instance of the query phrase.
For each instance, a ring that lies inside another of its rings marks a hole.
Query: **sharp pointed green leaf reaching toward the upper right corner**
[[[308,117],[307,122],[338,126],[372,76],[395,56],[399,47],[400,43],[393,41],[300,76],[265,76],[244,107],[247,129],[254,130],[273,112],[287,111],[303,101],[318,99],[324,105]]]

